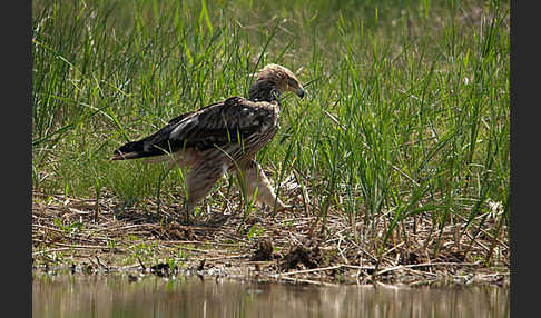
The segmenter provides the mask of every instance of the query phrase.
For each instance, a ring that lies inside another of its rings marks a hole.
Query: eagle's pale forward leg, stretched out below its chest
[[[242,165],[240,168],[246,182],[248,198],[254,196],[255,189],[257,188],[257,202],[265,203],[269,207],[274,207],[276,203],[276,211],[292,208],[291,206],[284,205],[284,202],[276,197],[273,186],[270,186],[270,181],[263,172],[259,163],[255,160],[248,160],[246,163]]]

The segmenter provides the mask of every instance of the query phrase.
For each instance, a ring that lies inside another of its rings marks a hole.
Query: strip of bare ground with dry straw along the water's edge
[[[440,233],[430,230],[429,216],[399,227],[382,249],[384,222],[375,229],[360,222],[353,233],[350,221],[331,210],[325,221],[302,209],[273,215],[265,208],[248,216],[207,210],[187,226],[180,217],[156,213],[154,202],[145,205],[150,211],[122,206],[114,197],[96,205],[35,193],[33,270],[198,274],[315,285],[509,285],[505,242],[489,231],[472,240],[472,229],[456,244],[456,229],[444,228],[434,256]],[[498,250],[489,255],[494,241]]]

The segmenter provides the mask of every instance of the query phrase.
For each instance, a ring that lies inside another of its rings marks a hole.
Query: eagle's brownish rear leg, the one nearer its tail
[[[197,203],[208,195],[225,171],[224,167],[213,165],[212,161],[204,161],[189,170],[186,178],[187,197],[184,202],[188,223]]]

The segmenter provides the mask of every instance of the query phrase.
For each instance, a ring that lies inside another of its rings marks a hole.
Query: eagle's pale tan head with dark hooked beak
[[[286,91],[301,98],[305,95],[303,86],[291,70],[278,64],[267,64],[257,74],[248,93],[252,100],[274,100]]]

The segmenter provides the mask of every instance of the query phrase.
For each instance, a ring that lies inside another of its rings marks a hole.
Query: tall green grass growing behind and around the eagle
[[[179,171],[112,150],[246,96],[276,62],[308,95],[285,97],[258,160],[282,193],[295,177],[323,226],[340,213],[356,240],[384,226],[376,248],[422,217],[435,239],[508,227],[508,1],[43,0],[32,14],[35,191],[178,203]]]

